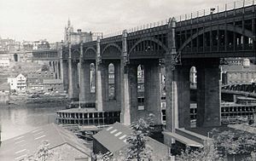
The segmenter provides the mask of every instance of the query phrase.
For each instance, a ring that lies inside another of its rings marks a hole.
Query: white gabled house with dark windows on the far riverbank
[[[26,77],[21,73],[15,78],[8,78],[9,88],[17,92],[26,91]]]

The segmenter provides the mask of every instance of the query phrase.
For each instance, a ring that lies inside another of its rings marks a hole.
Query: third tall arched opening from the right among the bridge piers
[[[115,83],[114,83],[114,66],[112,63],[108,65],[108,98],[115,99]]]

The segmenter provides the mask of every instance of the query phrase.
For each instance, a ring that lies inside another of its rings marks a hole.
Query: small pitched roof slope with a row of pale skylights
[[[96,135],[93,135],[96,141],[106,147],[110,152],[117,152],[122,147],[125,147],[125,139],[131,135],[131,129],[123,124],[115,123],[107,129],[102,129]]]

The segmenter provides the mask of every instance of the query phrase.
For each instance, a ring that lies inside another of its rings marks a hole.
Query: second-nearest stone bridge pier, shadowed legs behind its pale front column
[[[139,69],[143,66],[143,72]],[[159,60],[131,60],[126,66],[129,90],[125,95],[130,102],[130,119],[148,118],[150,113],[155,116],[155,124],[161,124],[160,109],[160,65]],[[125,116],[127,117],[127,116]]]

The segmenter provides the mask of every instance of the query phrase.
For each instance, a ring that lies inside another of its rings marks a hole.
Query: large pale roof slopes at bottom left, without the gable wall
[[[49,142],[49,149],[68,144],[90,156],[90,149],[85,147],[71,131],[55,124],[47,124],[24,135],[3,141],[0,147],[1,160],[20,160],[38,150],[42,141]]]

